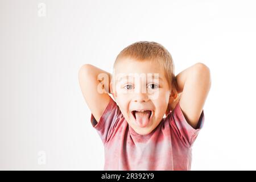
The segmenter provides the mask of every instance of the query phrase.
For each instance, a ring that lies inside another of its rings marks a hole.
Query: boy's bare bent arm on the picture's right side
[[[203,63],[197,63],[176,76],[179,104],[185,119],[196,128],[205,100],[207,99],[211,78],[210,70]]]

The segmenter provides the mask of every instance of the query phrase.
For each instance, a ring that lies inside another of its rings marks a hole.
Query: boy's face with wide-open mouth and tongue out
[[[128,58],[115,66],[111,89],[123,117],[141,135],[158,126],[171,93],[160,65]]]

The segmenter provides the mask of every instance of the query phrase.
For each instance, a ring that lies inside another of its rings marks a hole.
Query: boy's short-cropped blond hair
[[[117,63],[130,58],[138,61],[155,61],[162,68],[168,81],[169,88],[176,88],[176,78],[174,75],[174,62],[172,56],[166,48],[156,42],[139,41],[124,48],[117,56],[114,62],[114,68]]]

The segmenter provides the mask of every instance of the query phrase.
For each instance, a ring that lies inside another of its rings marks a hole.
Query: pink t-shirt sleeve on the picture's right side
[[[179,135],[181,142],[187,147],[192,147],[197,138],[197,135],[199,134],[199,131],[204,125],[204,110],[201,112],[196,129],[194,129],[186,121],[180,108],[180,102],[177,102],[175,108],[171,111],[170,117],[171,128],[177,135]]]

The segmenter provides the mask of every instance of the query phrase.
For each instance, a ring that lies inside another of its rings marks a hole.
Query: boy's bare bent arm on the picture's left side
[[[84,64],[79,69],[82,95],[97,122],[109,104],[110,78],[110,73],[90,64]]]

